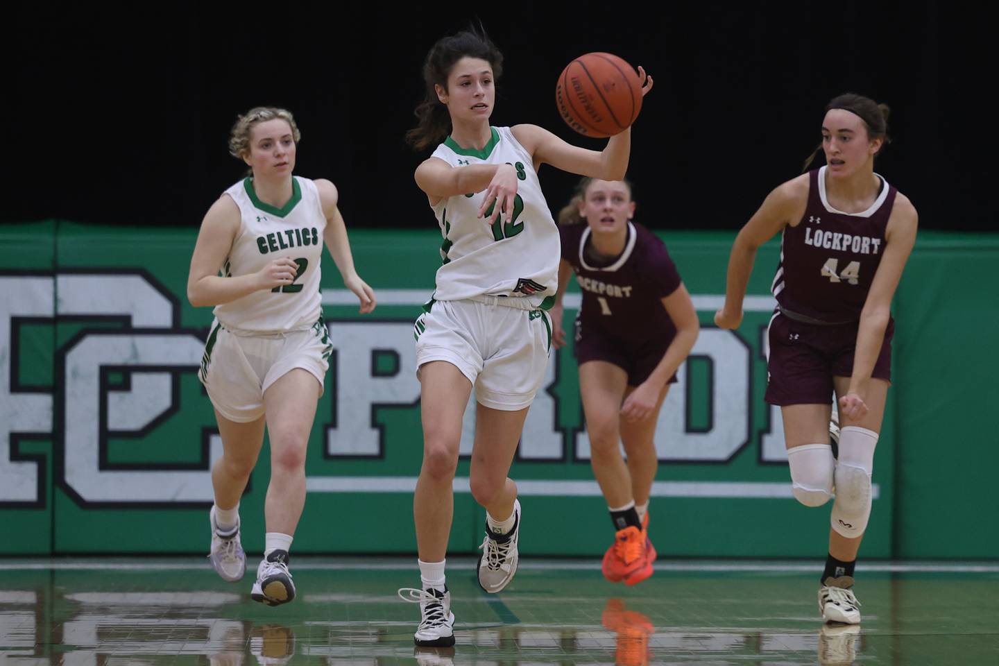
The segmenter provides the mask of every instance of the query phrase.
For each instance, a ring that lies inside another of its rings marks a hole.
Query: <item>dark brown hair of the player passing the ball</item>
[[[482,27],[473,27],[439,39],[424,60],[424,83],[427,84],[427,89],[423,102],[413,112],[419,122],[406,133],[406,142],[414,149],[429,148],[451,133],[451,115],[448,107],[438,98],[434,86],[440,85],[448,90],[448,75],[455,63],[466,57],[487,61],[493,68],[494,80],[500,78],[502,54]]]

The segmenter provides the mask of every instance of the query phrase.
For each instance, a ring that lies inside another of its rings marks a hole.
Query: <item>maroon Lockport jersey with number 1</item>
[[[592,243],[589,227],[569,225],[558,232],[562,259],[572,266],[582,292],[577,319],[583,330],[599,329],[634,345],[676,334],[661,299],[676,291],[680,276],[654,234],[629,222],[623,252],[594,265],[586,250]]]

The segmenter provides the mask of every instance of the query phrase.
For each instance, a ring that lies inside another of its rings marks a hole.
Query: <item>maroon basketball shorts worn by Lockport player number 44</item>
[[[832,401],[832,377],[853,374],[858,322],[835,326],[804,324],[777,315],[770,322],[766,394],[770,404],[826,404]],[[891,336],[888,321],[872,377],[891,380]]]

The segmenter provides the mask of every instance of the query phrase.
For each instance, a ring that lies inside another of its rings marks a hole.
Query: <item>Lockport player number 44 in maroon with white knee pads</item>
[[[781,232],[765,398],[781,407],[795,498],[820,506],[835,496],[819,589],[827,622],[860,622],[853,569],[870,516],[890,379],[891,299],[916,240],[916,210],[874,173],[874,156],[888,141],[887,116],[886,106],[860,95],[829,102],[822,121],[826,166],[777,187],[739,232],[725,303],[714,318],[723,329],[738,328],[756,250]],[[836,459],[827,431],[833,389]]]

